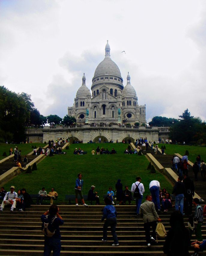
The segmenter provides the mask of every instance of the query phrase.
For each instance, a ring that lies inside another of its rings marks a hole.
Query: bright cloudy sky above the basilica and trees
[[[148,121],[187,108],[206,120],[204,0],[0,0],[0,86],[64,117],[83,73],[91,91],[107,40]]]

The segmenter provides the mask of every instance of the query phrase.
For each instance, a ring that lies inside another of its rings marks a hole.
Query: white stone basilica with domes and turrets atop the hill
[[[86,86],[86,77],[82,77],[73,107],[68,107],[68,116],[76,118],[77,123],[89,124],[146,124],[146,105],[138,105],[136,91],[123,79],[117,64],[110,58],[107,42],[105,58],[97,66],[92,79],[91,91]]]

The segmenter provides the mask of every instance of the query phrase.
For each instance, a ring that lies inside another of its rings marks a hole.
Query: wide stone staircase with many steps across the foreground
[[[110,230],[108,241],[102,242],[103,223],[101,222],[103,206],[61,205],[60,215],[64,219],[61,226],[61,255],[146,255],[163,256],[163,242],[148,248],[145,242],[142,218],[137,217],[135,206],[116,206],[117,236],[119,246],[113,243]],[[32,205],[26,212],[10,212],[9,208],[0,212],[0,255],[43,255],[43,235],[41,233],[40,216],[47,210],[45,205]],[[160,218],[166,230],[169,228],[169,212],[160,213]],[[185,217],[187,225],[187,217]],[[206,236],[205,223],[202,226],[203,236]],[[194,240],[194,235],[193,235]],[[191,248],[191,252],[193,249]],[[201,255],[206,255],[201,253]]]

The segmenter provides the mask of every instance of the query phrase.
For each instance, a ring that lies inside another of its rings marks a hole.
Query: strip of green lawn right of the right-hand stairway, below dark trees
[[[206,161],[206,147],[173,144],[158,144],[158,147],[161,148],[162,145],[166,146],[165,154],[172,155],[174,153],[179,153],[180,155],[184,155],[185,151],[188,150],[188,160],[191,162],[195,163],[198,155],[201,156],[201,159]]]

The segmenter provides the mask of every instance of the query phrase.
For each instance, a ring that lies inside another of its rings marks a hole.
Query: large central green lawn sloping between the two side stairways
[[[91,155],[91,150],[96,150],[97,146],[108,148],[112,147],[117,151],[116,155]],[[127,144],[128,145],[128,144]],[[67,155],[55,155],[46,157],[37,165],[36,171],[31,174],[22,173],[5,184],[5,189],[14,185],[17,189],[25,187],[28,193],[35,194],[45,186],[49,192],[54,187],[58,192],[58,204],[64,203],[64,195],[74,194],[75,180],[78,173],[82,173],[84,180],[83,194],[87,194],[91,185],[96,186],[95,191],[100,196],[103,203],[103,195],[108,191],[109,186],[115,188],[118,179],[121,179],[123,188],[128,185],[131,188],[136,176],[142,177],[145,186],[145,194],[149,193],[149,183],[151,180],[159,180],[161,188],[172,191],[172,186],[165,177],[157,172],[150,173],[147,170],[148,160],[144,155],[125,155],[124,150],[127,145],[119,144],[73,144],[66,150]],[[74,155],[75,148],[81,147],[88,151],[87,155]],[[134,202],[133,202],[134,203]]]

